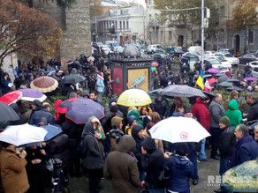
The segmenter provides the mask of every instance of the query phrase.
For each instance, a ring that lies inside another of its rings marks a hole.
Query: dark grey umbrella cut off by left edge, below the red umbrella
[[[19,115],[3,102],[0,102],[0,129],[7,126],[9,122],[19,121]]]

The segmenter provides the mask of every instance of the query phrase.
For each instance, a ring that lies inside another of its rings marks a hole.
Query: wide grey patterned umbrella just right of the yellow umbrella
[[[169,85],[163,89],[162,94],[168,97],[205,97],[200,89],[189,85]]]

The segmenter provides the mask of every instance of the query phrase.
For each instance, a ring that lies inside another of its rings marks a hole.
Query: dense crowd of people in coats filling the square
[[[243,118],[248,122],[258,118],[258,99],[254,93],[248,93],[244,100],[239,92],[232,91],[225,106],[220,93],[214,98],[209,95],[191,98],[190,106],[181,98],[174,98],[170,105],[159,93],[148,106],[126,108],[112,98],[105,104],[102,97],[111,94],[111,88],[107,89],[111,81],[109,65],[101,59],[87,59],[81,56],[68,64],[70,74],[87,77],[87,84],[81,87],[62,84],[65,73],[57,61],[50,61],[49,67],[38,66],[37,70],[20,63],[13,82],[15,89],[29,87],[34,78],[49,73],[59,82],[63,95],[72,101],[78,98],[94,100],[104,106],[105,116],[101,120],[92,116],[85,124],[77,124],[65,117],[60,99],[53,105],[39,100],[19,100],[11,104],[20,117],[19,122],[12,124],[28,122],[39,127],[52,124],[61,127],[63,132],[47,142],[26,145],[25,149],[1,143],[0,172],[5,193],[67,191],[70,177],[85,174],[90,193],[99,192],[102,177],[112,182],[115,193],[187,193],[190,192],[190,179],[194,185],[199,182],[199,161],[220,160],[219,174],[224,174],[229,168],[258,157],[258,127],[254,128],[252,136],[248,127],[241,123]],[[166,69],[154,72],[155,88],[166,87],[171,80],[187,84],[181,81],[179,72],[177,79]],[[11,91],[11,84],[8,74],[1,72],[2,94]],[[211,137],[200,143],[174,144],[151,138],[148,130],[170,116],[196,119]],[[51,162],[52,170],[49,169]],[[221,187],[216,191],[226,189]]]

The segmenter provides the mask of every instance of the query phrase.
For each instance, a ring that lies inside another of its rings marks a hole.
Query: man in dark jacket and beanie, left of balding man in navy
[[[222,133],[218,140],[218,150],[220,152],[219,174],[223,175],[231,167],[231,156],[235,145],[234,132],[231,129],[231,122],[227,116],[219,119],[219,128]],[[224,187],[221,186],[216,192],[223,192]]]

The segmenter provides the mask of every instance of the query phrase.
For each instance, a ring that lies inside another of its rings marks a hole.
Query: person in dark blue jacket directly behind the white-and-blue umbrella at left
[[[42,117],[46,118],[49,124],[55,123],[54,116],[42,108],[42,102],[40,100],[34,100],[32,106],[34,113],[30,117],[29,124],[38,126]]]

